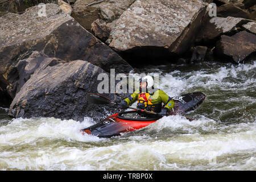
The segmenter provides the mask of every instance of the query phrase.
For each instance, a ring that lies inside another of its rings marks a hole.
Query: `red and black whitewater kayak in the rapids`
[[[169,115],[184,114],[189,110],[199,106],[205,98],[201,92],[188,93],[177,97],[172,97],[175,101],[174,110]],[[114,137],[130,131],[141,129],[160,119],[161,116],[155,114],[144,114],[141,111],[132,110],[110,115],[102,121],[82,129],[85,134],[92,134],[98,137]]]

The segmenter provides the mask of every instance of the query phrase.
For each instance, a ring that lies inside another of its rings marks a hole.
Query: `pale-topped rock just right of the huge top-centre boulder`
[[[237,27],[249,20],[243,18],[234,18],[228,16],[227,18],[213,17],[205,19],[203,27],[197,34],[196,42],[210,42],[217,39],[222,34],[230,34],[237,32]]]

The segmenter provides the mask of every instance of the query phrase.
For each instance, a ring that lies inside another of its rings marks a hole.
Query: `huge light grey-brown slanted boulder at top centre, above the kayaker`
[[[115,22],[109,46],[117,51],[162,47],[184,52],[205,13],[202,1],[137,0]]]

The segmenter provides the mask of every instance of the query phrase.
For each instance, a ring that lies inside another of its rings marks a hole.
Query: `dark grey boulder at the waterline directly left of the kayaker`
[[[51,58],[44,57],[42,63],[49,60]],[[117,111],[113,106],[93,105],[86,101],[86,93],[97,93],[100,73],[108,75],[103,69],[82,60],[38,68],[16,94],[9,115],[82,121],[86,116],[100,118]],[[114,94],[105,96],[119,101]]]

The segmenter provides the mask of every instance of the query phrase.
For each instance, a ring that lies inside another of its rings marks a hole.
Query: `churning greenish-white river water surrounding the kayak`
[[[148,69],[169,96],[203,92],[194,111],[163,117],[110,139],[82,135],[94,124],[7,117],[0,109],[0,170],[256,170],[256,61]]]

